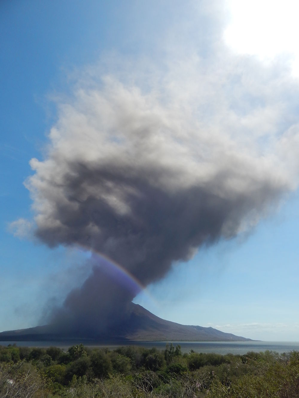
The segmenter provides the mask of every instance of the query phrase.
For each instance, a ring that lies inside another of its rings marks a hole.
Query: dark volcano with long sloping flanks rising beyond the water
[[[53,325],[10,330],[0,333],[2,341],[252,341],[242,336],[220,332],[203,326],[181,325],[155,316],[142,306],[132,303],[128,318],[105,334],[85,336],[61,333]]]

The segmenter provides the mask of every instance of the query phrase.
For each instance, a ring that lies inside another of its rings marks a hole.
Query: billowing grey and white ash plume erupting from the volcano
[[[51,247],[102,253],[147,285],[201,245],[230,239],[267,215],[293,188],[286,155],[297,129],[269,139],[279,99],[258,111],[249,101],[241,112],[225,99],[223,76],[205,93],[198,79],[199,95],[189,85],[190,98],[180,84],[176,92],[165,84],[169,96],[162,97],[106,79],[60,105],[45,160],[31,160],[35,174],[26,183],[36,236]],[[249,80],[238,84],[236,96],[251,90]],[[273,92],[262,92],[261,102]],[[108,275],[100,257],[91,261],[92,275],[53,311],[61,328],[101,331],[107,319],[120,322],[138,293]]]

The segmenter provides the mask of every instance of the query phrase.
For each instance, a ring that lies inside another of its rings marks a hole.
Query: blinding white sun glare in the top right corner
[[[280,54],[291,57],[299,77],[299,2],[296,0],[227,0],[230,22],[224,32],[228,46],[240,54],[270,61]]]

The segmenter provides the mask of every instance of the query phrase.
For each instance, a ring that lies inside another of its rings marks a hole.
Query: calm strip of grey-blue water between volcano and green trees
[[[49,347],[51,345],[68,349],[71,345],[79,344],[81,341],[0,341],[0,345],[7,346],[8,344],[16,343],[17,346],[27,347]],[[108,343],[89,343],[84,342],[87,347],[108,347],[115,349],[124,345],[137,345],[139,347],[157,347],[158,349],[165,349],[167,341],[131,341],[130,343],[115,343],[115,345]],[[287,353],[289,351],[299,351],[299,341],[172,341],[173,345],[180,344],[183,353],[189,352],[193,349],[195,352],[212,352],[217,354],[246,354],[248,351],[276,351],[278,353]]]

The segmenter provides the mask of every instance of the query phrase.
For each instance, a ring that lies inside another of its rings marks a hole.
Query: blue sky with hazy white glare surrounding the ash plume
[[[258,11],[254,2],[244,27],[244,9],[233,1],[1,2],[0,330],[35,326],[90,274],[89,252],[49,248],[33,237],[37,199],[24,181],[35,173],[29,161],[47,158],[51,128],[71,121],[61,104],[82,112],[84,96],[76,93],[94,87],[101,93],[108,75],[138,87],[141,101],[154,102],[159,91],[165,109],[182,107],[190,126],[195,118],[197,126],[217,131],[218,141],[223,127],[232,147],[259,164],[265,159],[266,172],[287,187],[236,236],[224,234],[189,261],[175,262],[134,302],[182,324],[298,340],[296,4],[267,4]],[[277,36],[279,22],[289,28]]]

